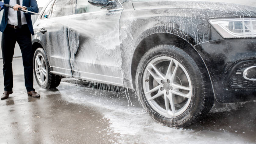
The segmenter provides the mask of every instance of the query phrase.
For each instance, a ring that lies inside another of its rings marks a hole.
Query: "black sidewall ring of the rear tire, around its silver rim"
[[[38,53],[42,54],[42,56],[44,58],[44,62],[45,62],[46,79],[45,79],[45,83],[44,84],[41,84],[39,82],[39,80],[37,79],[37,76],[36,76],[35,62],[36,62],[36,56],[37,56]],[[49,74],[48,74],[49,73],[48,72],[48,60],[47,60],[45,52],[44,52],[44,50],[42,48],[37,48],[36,51],[35,51],[34,58],[33,58],[33,69],[34,69],[34,76],[36,78],[38,86],[40,86],[42,88],[46,88],[47,84],[48,84],[48,77],[49,77]]]

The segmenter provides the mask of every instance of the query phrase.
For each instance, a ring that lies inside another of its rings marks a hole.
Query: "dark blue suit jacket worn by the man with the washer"
[[[5,4],[9,4],[9,0],[4,0]],[[28,11],[31,12],[36,12],[38,13],[38,7],[37,7],[37,1],[36,0],[23,0],[23,5],[22,6],[26,6]],[[24,13],[26,20],[27,20],[27,25],[28,28],[30,30],[30,33],[32,35],[34,35],[34,30],[33,30],[33,24],[32,24],[32,20],[31,20],[31,13]],[[4,32],[6,26],[7,26],[7,22],[8,22],[8,8],[4,7],[4,14],[3,14],[3,18],[2,18],[2,22],[0,25],[0,31]]]

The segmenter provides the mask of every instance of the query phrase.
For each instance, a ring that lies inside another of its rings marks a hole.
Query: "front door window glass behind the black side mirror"
[[[100,11],[101,8],[91,5],[88,0],[77,0],[76,1],[76,14],[87,13],[87,12],[96,12]]]

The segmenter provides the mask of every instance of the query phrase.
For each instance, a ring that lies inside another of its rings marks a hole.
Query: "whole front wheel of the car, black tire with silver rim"
[[[211,89],[198,55],[173,45],[150,49],[137,67],[140,103],[163,125],[184,127],[206,115],[214,104]]]

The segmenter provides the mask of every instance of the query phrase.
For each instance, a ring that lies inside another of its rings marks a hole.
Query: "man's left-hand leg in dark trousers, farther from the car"
[[[15,31],[7,27],[2,33],[2,56],[3,56],[3,74],[4,74],[4,90],[12,91],[13,76],[12,76],[12,57],[16,43]]]

